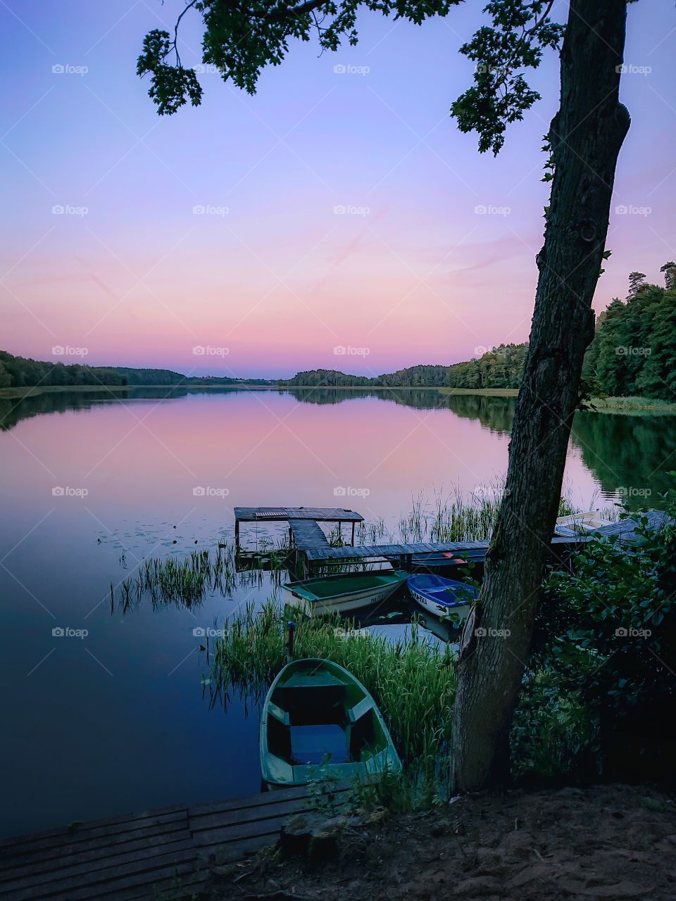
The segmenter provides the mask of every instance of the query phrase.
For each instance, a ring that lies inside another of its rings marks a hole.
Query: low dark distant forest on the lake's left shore
[[[264,378],[183,376],[171,369],[127,369],[123,366],[84,366],[81,363],[40,361],[14,357],[0,350],[0,388],[106,385],[261,385],[275,384]]]

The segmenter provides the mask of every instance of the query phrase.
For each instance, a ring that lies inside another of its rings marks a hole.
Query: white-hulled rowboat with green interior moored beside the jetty
[[[282,586],[282,592],[288,604],[321,616],[379,604],[393,595],[407,578],[408,573],[399,569],[374,569],[288,582]]]

